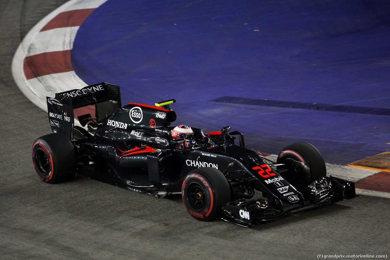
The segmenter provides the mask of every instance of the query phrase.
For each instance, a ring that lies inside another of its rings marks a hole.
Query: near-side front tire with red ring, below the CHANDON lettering
[[[186,210],[199,221],[220,219],[223,204],[231,200],[230,185],[225,176],[211,167],[188,173],[181,191]]]

